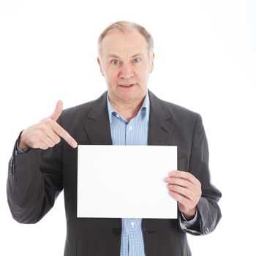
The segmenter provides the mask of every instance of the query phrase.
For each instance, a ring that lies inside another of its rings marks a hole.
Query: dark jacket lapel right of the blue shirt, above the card
[[[165,110],[162,101],[151,91],[148,91],[150,100],[150,114],[148,123],[148,145],[165,146],[170,145],[170,138],[173,134],[171,116]]]

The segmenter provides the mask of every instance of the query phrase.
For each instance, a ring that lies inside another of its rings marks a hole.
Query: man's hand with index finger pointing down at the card
[[[72,148],[76,148],[78,143],[56,122],[61,116],[62,108],[63,103],[59,100],[51,116],[23,130],[18,148],[21,150],[25,148],[47,149],[58,144],[61,138],[66,140]]]

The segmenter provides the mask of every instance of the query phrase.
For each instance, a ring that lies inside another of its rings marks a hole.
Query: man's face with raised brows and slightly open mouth
[[[98,63],[110,102],[140,104],[154,68],[154,53],[148,52],[146,39],[137,30],[107,34],[102,40]]]

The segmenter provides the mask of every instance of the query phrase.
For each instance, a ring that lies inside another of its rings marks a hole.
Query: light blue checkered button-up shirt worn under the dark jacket
[[[113,145],[148,145],[148,94],[138,115],[127,121],[108,100],[108,115]],[[120,256],[145,256],[142,219],[122,219]]]

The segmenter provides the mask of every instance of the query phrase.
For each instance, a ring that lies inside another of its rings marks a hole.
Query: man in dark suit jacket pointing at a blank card
[[[64,255],[191,255],[186,233],[210,233],[221,217],[202,120],[148,91],[153,39],[142,26],[117,22],[105,29],[97,61],[108,92],[64,111],[59,101],[50,117],[20,133],[7,181],[12,216],[38,222],[64,189]],[[178,170],[163,177],[178,201],[178,219],[77,218],[78,144],[178,146]]]

